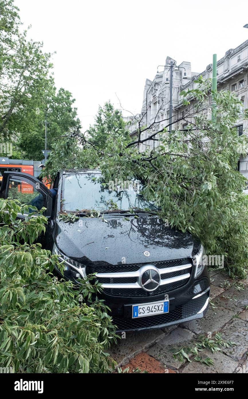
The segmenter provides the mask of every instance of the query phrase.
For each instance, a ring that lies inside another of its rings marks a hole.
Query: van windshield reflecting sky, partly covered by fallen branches
[[[99,180],[100,179],[100,180]],[[156,211],[152,202],[140,194],[139,180],[121,182],[117,179],[103,183],[101,174],[65,174],[62,190],[63,211],[109,211],[138,208]]]

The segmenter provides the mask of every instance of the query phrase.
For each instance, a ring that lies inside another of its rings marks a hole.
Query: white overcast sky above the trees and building
[[[29,38],[53,55],[56,87],[76,99],[83,130],[98,105],[141,111],[145,79],[166,56],[202,72],[248,39],[247,0],[16,0]],[[115,94],[116,93],[116,94]],[[117,96],[116,96],[117,95]],[[123,115],[127,113],[123,112]]]

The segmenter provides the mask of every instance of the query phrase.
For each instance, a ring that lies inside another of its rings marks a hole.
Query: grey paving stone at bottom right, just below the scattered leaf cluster
[[[200,352],[199,356],[205,359],[207,357],[214,361],[213,365],[206,365],[199,361],[191,361],[180,370],[181,373],[233,373],[238,367],[238,361],[231,359],[229,356],[221,352],[211,352],[205,350]]]

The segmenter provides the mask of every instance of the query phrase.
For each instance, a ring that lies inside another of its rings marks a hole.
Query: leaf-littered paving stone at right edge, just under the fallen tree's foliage
[[[212,302],[217,306],[234,310],[237,313],[243,310],[245,306],[248,306],[248,290],[238,291],[233,285]]]

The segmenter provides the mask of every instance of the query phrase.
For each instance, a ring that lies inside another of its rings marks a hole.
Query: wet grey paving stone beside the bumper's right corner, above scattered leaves
[[[228,309],[216,308],[209,306],[207,314],[201,319],[191,320],[182,323],[183,326],[194,332],[195,334],[207,334],[208,332],[219,331],[229,320],[232,319],[235,312]]]

